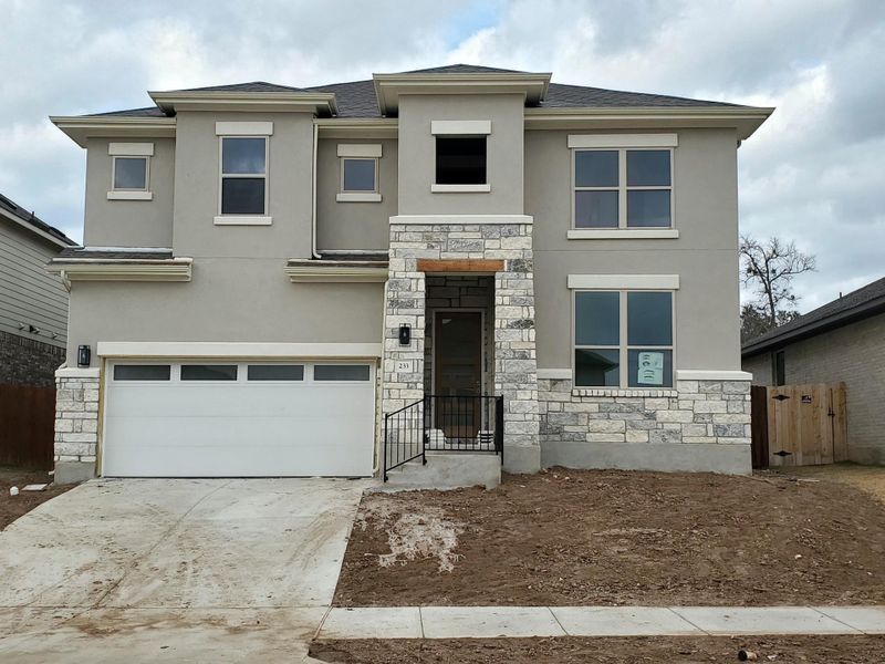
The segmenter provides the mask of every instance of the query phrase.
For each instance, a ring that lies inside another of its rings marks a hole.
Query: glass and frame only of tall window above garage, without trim
[[[221,138],[221,214],[267,212],[267,136],[225,136]]]

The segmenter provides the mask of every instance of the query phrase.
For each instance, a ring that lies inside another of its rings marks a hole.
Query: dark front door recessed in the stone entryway
[[[482,314],[442,311],[434,330],[436,427],[446,438],[475,438],[482,394]]]

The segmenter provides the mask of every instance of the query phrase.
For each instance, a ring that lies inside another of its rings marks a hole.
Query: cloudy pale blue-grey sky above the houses
[[[885,1],[0,0],[0,193],[82,238],[85,155],[46,120],[146,90],[467,62],[777,106],[739,151],[743,232],[818,257],[806,311],[885,276]]]

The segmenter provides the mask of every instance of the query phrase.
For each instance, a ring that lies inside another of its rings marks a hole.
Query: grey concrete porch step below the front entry
[[[483,453],[428,452],[427,464],[415,459],[387,473],[388,488],[458,489],[501,484],[501,457]]]

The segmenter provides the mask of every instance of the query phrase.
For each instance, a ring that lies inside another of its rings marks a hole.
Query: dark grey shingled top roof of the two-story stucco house
[[[517,70],[504,70],[473,64],[449,64],[429,69],[402,72],[403,74],[528,74]],[[329,83],[312,87],[291,87],[264,81],[238,83],[233,85],[215,85],[211,87],[192,87],[175,92],[327,92],[334,93],[337,102],[339,117],[381,117],[378,100],[375,93],[374,81],[351,81],[345,83]],[[639,92],[625,92],[621,90],[606,90],[603,87],[587,87],[583,85],[566,85],[550,83],[546,95],[541,101],[541,108],[699,108],[726,107],[740,108],[738,104],[725,102],[710,102],[691,100],[680,96],[663,94],[647,94]],[[165,113],[157,107],[132,108],[128,111],[112,111],[110,113],[94,113],[93,116],[121,116],[121,117],[165,117]]]

